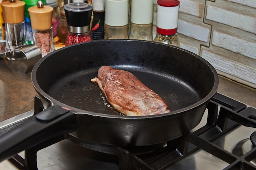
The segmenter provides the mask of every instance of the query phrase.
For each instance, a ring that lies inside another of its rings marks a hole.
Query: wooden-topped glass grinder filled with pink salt
[[[53,8],[39,0],[37,6],[29,7],[33,42],[42,52],[42,57],[55,50],[52,32]]]

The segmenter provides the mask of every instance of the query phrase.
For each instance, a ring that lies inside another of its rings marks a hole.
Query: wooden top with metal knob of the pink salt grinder
[[[53,8],[38,1],[37,6],[29,7],[31,27],[35,30],[47,30],[52,27]]]

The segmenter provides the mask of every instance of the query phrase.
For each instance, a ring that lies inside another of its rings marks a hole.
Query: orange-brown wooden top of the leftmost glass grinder
[[[18,24],[25,20],[25,2],[21,0],[7,0],[1,3],[4,22]]]

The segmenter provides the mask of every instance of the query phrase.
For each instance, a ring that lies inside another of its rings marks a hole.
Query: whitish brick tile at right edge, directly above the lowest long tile
[[[249,42],[231,35],[213,31],[212,44],[226,50],[256,59],[256,41]]]

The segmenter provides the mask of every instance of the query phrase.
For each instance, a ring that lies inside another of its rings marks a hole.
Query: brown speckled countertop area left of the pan
[[[25,70],[22,61],[0,58],[0,121],[34,109],[37,93]]]

